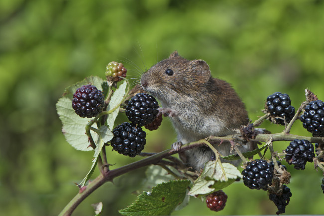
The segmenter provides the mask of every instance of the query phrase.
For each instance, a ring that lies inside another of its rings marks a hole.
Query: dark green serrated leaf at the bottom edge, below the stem
[[[189,180],[158,184],[152,192],[144,192],[131,206],[119,210],[122,215],[170,215],[184,199]]]

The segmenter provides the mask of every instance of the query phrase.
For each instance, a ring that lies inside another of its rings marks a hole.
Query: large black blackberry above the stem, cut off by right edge
[[[311,101],[304,109],[305,112],[299,117],[303,127],[313,136],[324,136],[324,102]]]

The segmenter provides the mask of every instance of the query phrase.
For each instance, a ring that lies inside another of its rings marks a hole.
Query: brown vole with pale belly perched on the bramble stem
[[[234,134],[234,129],[248,124],[245,105],[235,90],[226,81],[211,77],[203,60],[187,60],[175,51],[144,72],[141,85],[161,102],[159,111],[170,117],[178,134],[172,148],[177,150],[208,136]],[[229,142],[214,146],[223,156],[234,154]],[[250,145],[239,148],[251,150]],[[212,156],[211,149],[200,147],[185,151],[185,159],[181,159],[199,171]]]

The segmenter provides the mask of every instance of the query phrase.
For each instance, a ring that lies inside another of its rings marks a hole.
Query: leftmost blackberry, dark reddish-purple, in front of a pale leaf
[[[81,86],[73,94],[72,108],[82,118],[96,117],[104,106],[104,95],[90,84]]]

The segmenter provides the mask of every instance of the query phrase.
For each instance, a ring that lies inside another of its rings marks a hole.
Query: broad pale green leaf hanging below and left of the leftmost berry
[[[91,120],[89,118],[81,118],[75,114],[72,108],[72,102],[67,97],[62,97],[56,103],[57,113],[62,121],[62,132],[66,141],[75,149],[80,151],[91,151],[89,147],[88,136],[85,134],[85,126]],[[96,125],[93,125],[96,128]],[[98,135],[91,131],[94,140]]]

